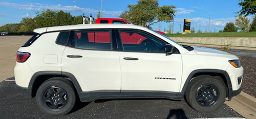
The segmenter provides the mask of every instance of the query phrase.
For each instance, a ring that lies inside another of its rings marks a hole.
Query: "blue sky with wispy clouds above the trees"
[[[118,18],[125,10],[129,10],[127,5],[135,5],[139,0],[103,0],[102,1],[102,18]],[[209,14],[210,14],[210,32],[219,32],[223,30],[228,22],[234,22],[236,12],[241,10],[238,5],[239,0],[159,0],[159,6],[176,6],[174,19],[174,33],[183,31],[184,19],[191,20],[191,26],[196,31],[208,31]],[[97,11],[101,10],[101,0],[0,0],[0,26],[7,23],[19,23],[23,17],[35,17],[36,12],[42,10],[62,10],[70,12],[71,15],[92,15],[96,18]],[[252,18],[252,16],[249,16]],[[173,22],[160,22],[152,25],[154,30],[164,31],[168,25]]]

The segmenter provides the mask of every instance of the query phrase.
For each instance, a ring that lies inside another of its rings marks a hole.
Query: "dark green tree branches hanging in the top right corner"
[[[256,0],[240,0],[241,2],[238,4],[242,7],[238,13],[240,15],[249,15],[256,13]]]

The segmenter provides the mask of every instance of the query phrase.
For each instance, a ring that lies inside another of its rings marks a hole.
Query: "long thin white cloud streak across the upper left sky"
[[[82,13],[97,13],[98,10],[94,10],[91,8],[80,8],[77,6],[61,6],[59,5],[44,5],[44,4],[38,4],[38,3],[26,3],[26,4],[15,4],[15,3],[8,3],[8,2],[0,2],[0,6],[7,6],[12,7],[16,9],[22,9],[22,10],[44,10],[44,9],[50,9],[50,10],[63,10],[63,11],[69,11],[69,12],[77,12],[80,11]],[[119,16],[122,11],[102,11],[105,15],[113,15],[113,16]]]

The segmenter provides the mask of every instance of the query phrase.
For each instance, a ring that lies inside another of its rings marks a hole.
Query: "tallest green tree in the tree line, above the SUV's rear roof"
[[[36,22],[36,27],[50,27],[50,26],[58,26],[59,21],[56,17],[58,11],[52,10],[42,10],[41,13],[36,12],[36,17],[34,18]]]

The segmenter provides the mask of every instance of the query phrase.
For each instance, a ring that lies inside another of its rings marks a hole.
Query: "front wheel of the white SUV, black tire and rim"
[[[222,82],[208,75],[197,76],[186,88],[185,97],[188,104],[199,112],[217,110],[226,98],[226,90]]]

